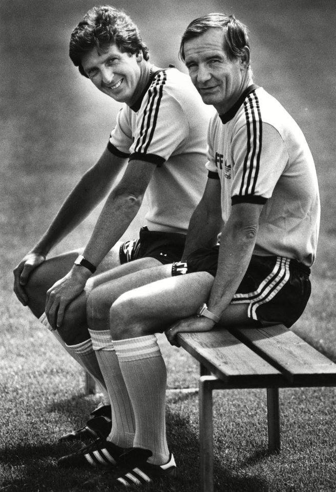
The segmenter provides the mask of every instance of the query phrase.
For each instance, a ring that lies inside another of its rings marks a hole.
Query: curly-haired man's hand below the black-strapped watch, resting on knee
[[[54,330],[61,326],[66,307],[83,291],[89,277],[86,268],[73,267],[47,291],[46,315]]]

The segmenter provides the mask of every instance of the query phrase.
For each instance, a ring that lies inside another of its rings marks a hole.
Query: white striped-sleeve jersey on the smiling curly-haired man
[[[146,190],[149,230],[186,233],[205,183],[209,111],[190,77],[159,70],[137,103],[117,115],[109,150],[156,166]]]

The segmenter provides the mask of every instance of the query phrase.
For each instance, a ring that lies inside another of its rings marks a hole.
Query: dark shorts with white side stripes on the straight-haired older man
[[[207,271],[216,275],[219,246],[200,248],[186,262],[173,264],[172,274]],[[310,268],[288,258],[252,255],[231,304],[247,303],[248,317],[263,326],[289,328],[303,313],[310,297]]]

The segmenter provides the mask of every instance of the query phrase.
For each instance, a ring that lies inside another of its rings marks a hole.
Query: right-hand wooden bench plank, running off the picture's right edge
[[[295,386],[336,383],[336,364],[284,325],[232,328],[230,332],[279,369]]]

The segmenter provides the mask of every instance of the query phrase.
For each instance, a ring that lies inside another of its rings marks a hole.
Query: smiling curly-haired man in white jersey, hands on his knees
[[[95,285],[111,279],[127,288],[127,280],[121,279],[139,270],[147,269],[155,281],[161,277],[152,267],[181,258],[188,223],[206,182],[203,162],[210,113],[187,75],[149,62],[137,26],[121,10],[89,10],[72,32],[70,57],[82,75],[121,103],[121,109],[101,158],[15,268],[14,291],[100,383],[105,405],[94,416],[109,423],[109,396],[87,328],[87,296]],[[146,225],[139,239],[121,243],[145,193]],[[85,249],[46,260],[106,196]],[[141,276],[136,282],[142,285]],[[96,423],[65,439],[97,436],[97,430],[107,435],[111,425],[97,429]]]

